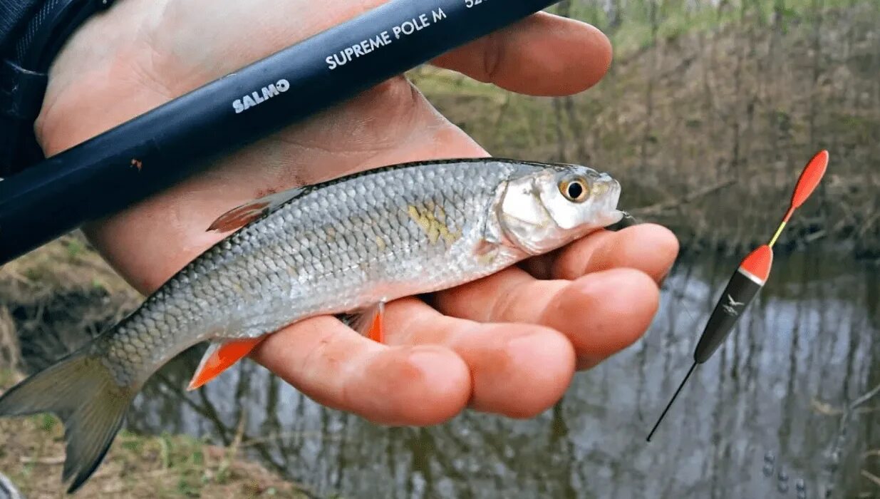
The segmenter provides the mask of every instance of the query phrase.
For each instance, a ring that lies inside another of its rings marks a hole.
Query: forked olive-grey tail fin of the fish
[[[25,379],[0,397],[0,416],[53,413],[64,423],[62,480],[73,493],[104,459],[135,390],[116,384],[97,356],[81,349]]]

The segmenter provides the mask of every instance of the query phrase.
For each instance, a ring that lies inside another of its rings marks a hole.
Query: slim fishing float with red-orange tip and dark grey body
[[[810,162],[803,168],[803,172],[801,172],[801,176],[797,180],[795,191],[791,195],[791,202],[788,205],[788,211],[782,217],[782,221],[776,229],[773,238],[770,238],[770,242],[766,245],[758,246],[752,253],[749,253],[740,262],[737,271],[730,277],[730,282],[727,283],[727,287],[724,288],[721,297],[718,299],[715,310],[709,316],[703,334],[700,336],[697,348],[693,351],[691,369],[687,371],[685,378],[678,385],[678,389],[672,395],[669,403],[666,404],[663,414],[660,415],[654,428],[648,434],[649,442],[651,437],[654,436],[656,429],[659,428],[660,422],[663,422],[666,413],[672,407],[672,403],[678,398],[678,393],[681,393],[682,388],[685,387],[687,379],[691,377],[691,374],[697,368],[697,364],[705,363],[709,360],[709,357],[715,353],[715,350],[721,346],[722,342],[730,334],[730,331],[736,326],[745,308],[752,303],[752,300],[758,295],[758,291],[764,287],[764,283],[766,283],[767,278],[770,276],[770,268],[773,266],[773,246],[776,244],[776,240],[779,239],[782,230],[785,229],[788,220],[791,219],[795,210],[800,208],[807,201],[807,198],[810,197],[810,194],[813,194],[813,191],[816,190],[819,181],[825,175],[827,167],[827,150],[819,151],[816,156],[810,159]]]

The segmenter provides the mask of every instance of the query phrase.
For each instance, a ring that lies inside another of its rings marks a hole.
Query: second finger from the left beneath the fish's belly
[[[548,327],[480,324],[446,317],[415,298],[386,308],[390,344],[436,344],[454,350],[471,372],[471,407],[532,417],[560,400],[575,372],[570,342]]]

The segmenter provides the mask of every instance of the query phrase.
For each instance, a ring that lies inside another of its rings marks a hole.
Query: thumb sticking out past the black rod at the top
[[[437,57],[437,66],[529,95],[569,95],[596,84],[611,42],[593,26],[540,12]]]

